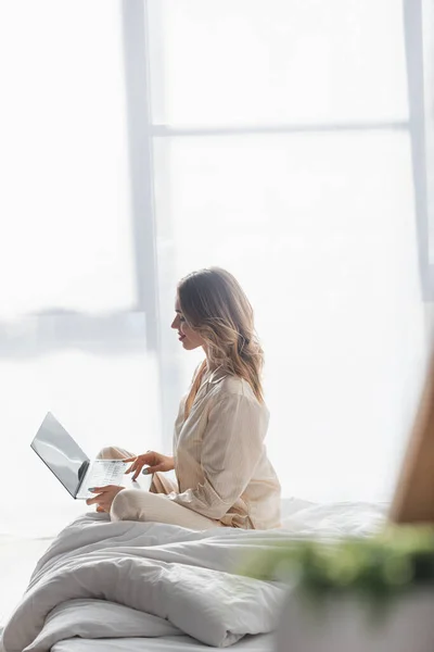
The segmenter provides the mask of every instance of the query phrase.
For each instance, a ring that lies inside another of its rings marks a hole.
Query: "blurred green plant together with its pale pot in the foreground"
[[[289,542],[252,560],[247,572],[292,587],[277,652],[434,650],[434,528]]]

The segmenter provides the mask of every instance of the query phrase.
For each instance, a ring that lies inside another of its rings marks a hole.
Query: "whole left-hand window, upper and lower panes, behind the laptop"
[[[0,49],[1,491],[13,492],[0,521],[47,535],[84,509],[29,449],[48,410],[89,455],[161,443],[155,315],[131,211],[120,3],[2,3]]]

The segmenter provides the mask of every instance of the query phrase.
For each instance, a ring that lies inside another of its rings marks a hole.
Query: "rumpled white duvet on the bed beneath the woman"
[[[38,563],[7,624],[4,649],[117,652],[126,650],[128,637],[128,651],[165,652],[179,637],[176,649],[187,652],[203,647],[193,639],[226,647],[245,635],[271,632],[284,588],[232,574],[240,560],[282,540],[370,534],[384,518],[381,507],[362,503],[298,502],[288,512],[285,529],[268,532],[192,532],[161,524],[112,524],[105,515],[79,517]],[[137,641],[143,643],[143,637],[146,647],[140,648]],[[101,638],[104,648],[92,641]],[[269,649],[267,638],[265,643],[264,637],[246,639],[235,648],[263,652]]]

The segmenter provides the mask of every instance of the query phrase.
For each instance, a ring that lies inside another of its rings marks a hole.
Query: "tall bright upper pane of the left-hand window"
[[[0,315],[131,306],[119,1],[2,2],[0,73]]]

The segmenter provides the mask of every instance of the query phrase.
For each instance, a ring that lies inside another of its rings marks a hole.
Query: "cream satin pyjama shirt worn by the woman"
[[[269,413],[242,378],[207,373],[184,419],[181,401],[174,434],[178,486],[155,474],[155,492],[222,525],[280,526],[280,484],[264,444]]]

